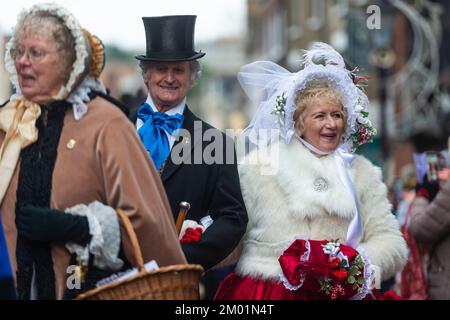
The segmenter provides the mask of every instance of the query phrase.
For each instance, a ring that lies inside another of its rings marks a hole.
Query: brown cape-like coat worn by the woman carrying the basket
[[[132,123],[102,98],[92,100],[88,107],[87,114],[79,121],[74,119],[72,110],[65,116],[53,171],[51,207],[64,210],[97,200],[112,208],[122,208],[135,228],[145,262],[154,259],[159,266],[186,263],[159,175]],[[0,144],[4,136],[0,131]],[[67,143],[71,139],[76,143],[69,149]],[[19,167],[1,203],[3,228],[14,269]],[[123,228],[121,238],[125,255],[133,263],[131,243]],[[52,246],[52,256],[57,297],[61,298],[70,256],[62,244]]]

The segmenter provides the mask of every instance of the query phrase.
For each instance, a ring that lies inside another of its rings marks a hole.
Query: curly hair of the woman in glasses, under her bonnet
[[[27,15],[16,28],[17,46],[20,39],[26,36],[37,36],[56,43],[59,58],[57,68],[62,78],[67,81],[76,59],[75,39],[64,22],[47,12],[37,12]]]

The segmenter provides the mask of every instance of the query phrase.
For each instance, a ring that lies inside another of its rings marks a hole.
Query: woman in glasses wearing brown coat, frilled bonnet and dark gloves
[[[159,176],[99,80],[100,40],[38,4],[19,16],[5,63],[16,93],[0,108],[0,204],[19,298],[73,297],[130,267],[116,208],[144,261],[186,263]]]

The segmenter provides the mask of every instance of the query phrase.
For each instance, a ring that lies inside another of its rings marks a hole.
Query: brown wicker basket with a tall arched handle
[[[142,252],[130,220],[118,209],[119,218],[130,236],[139,273],[130,278],[80,294],[76,300],[197,300],[203,268],[196,264],[161,267],[154,272],[144,269]]]

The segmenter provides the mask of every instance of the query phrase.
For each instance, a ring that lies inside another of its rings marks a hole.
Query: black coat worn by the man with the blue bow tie
[[[182,129],[189,135],[182,135],[175,142],[161,179],[175,221],[181,201],[191,205],[186,219],[200,222],[201,218],[210,215],[214,220],[200,242],[182,244],[188,262],[200,264],[207,270],[226,258],[237,246],[247,228],[247,211],[241,194],[233,140],[197,118],[187,106]],[[204,136],[205,131],[222,140],[221,150],[216,148],[218,153],[213,153],[219,156],[216,163],[205,162],[202,156],[205,151],[205,154],[210,154],[215,144],[214,139]],[[181,149],[184,152],[180,153]],[[220,153],[224,156],[221,157]],[[184,163],[174,163],[174,155],[180,154]],[[201,163],[194,163],[196,157]],[[227,157],[230,158],[228,162]]]

